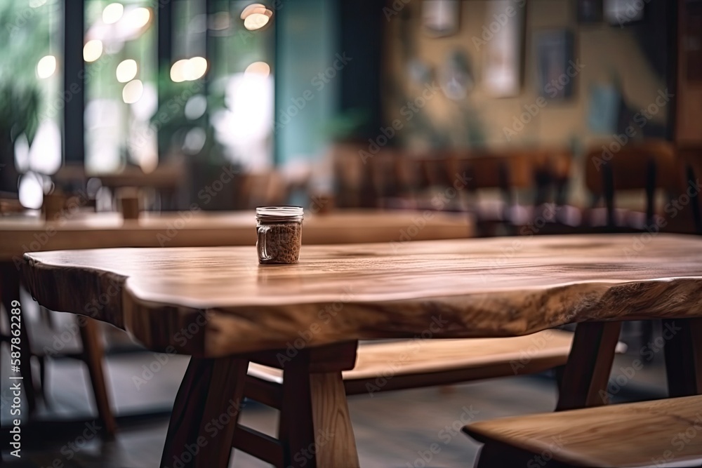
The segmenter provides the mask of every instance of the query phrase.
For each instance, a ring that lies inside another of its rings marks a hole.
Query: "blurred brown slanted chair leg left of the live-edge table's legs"
[[[88,366],[88,374],[93,386],[95,406],[98,407],[98,416],[102,423],[105,424],[105,435],[112,437],[117,429],[117,423],[114,422],[114,415],[112,414],[112,408],[110,408],[110,397],[107,395],[105,373],[102,370],[105,349],[102,347],[100,328],[96,321],[88,317],[85,317],[84,325],[79,328],[83,342],[84,359]]]

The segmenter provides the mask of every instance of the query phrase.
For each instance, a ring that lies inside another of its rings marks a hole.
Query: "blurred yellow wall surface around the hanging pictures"
[[[489,0],[461,1],[460,32],[437,39],[427,36],[421,29],[421,2],[409,1],[404,6],[409,13],[409,27],[411,36],[416,41],[418,58],[430,65],[434,72],[455,48],[463,49],[472,62],[476,84],[465,102],[453,102],[442,93],[437,93],[420,111],[430,118],[434,126],[450,130],[453,145],[463,145],[461,133],[465,132],[465,128],[459,109],[466,103],[476,109],[488,147],[569,145],[574,138],[578,138],[583,145],[589,145],[600,140],[610,141],[612,135],[592,135],[588,130],[588,85],[612,83],[611,71],[616,71],[621,79],[625,102],[634,109],[655,102],[658,90],[665,89],[665,81],[656,76],[637,45],[633,33],[627,27],[611,27],[604,22],[578,25],[574,0],[529,0],[524,7],[527,8],[527,14],[522,91],[517,98],[492,98],[487,95],[482,81],[486,47],[482,46],[478,51],[472,41],[473,36],[481,34],[483,25],[493,20],[486,17],[487,4]],[[512,4],[518,8],[519,2],[515,1]],[[388,86],[397,86],[407,98],[414,98],[419,95],[421,88],[411,83],[406,64],[402,62],[399,38],[399,26],[402,21],[402,15],[394,15],[388,22],[388,40],[385,44],[387,67],[384,78]],[[538,98],[532,33],[538,29],[562,27],[567,27],[574,33],[574,58],[579,58],[585,65],[576,77],[574,96],[563,102],[549,102],[524,130],[508,142],[503,128],[511,127],[514,116],[524,112],[523,106],[534,104]],[[383,103],[383,107],[388,122],[392,119],[404,119],[397,100],[388,99]],[[663,108],[654,116],[654,121],[665,123],[665,112],[667,109]],[[412,148],[426,145],[425,142],[409,135],[411,131],[405,132],[402,135],[405,145]]]

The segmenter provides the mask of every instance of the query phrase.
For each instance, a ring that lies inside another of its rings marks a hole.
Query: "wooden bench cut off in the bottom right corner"
[[[477,468],[700,467],[702,396],[480,421]]]

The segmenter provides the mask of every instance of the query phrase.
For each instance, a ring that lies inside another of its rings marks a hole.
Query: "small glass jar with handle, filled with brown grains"
[[[297,263],[303,239],[303,208],[262,206],[256,208],[256,250],[261,265]]]

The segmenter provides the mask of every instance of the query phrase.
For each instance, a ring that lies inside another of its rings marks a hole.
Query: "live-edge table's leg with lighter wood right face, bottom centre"
[[[355,356],[357,345],[350,346]],[[359,467],[341,370],[314,372],[307,351],[284,368],[279,425],[284,466]]]

